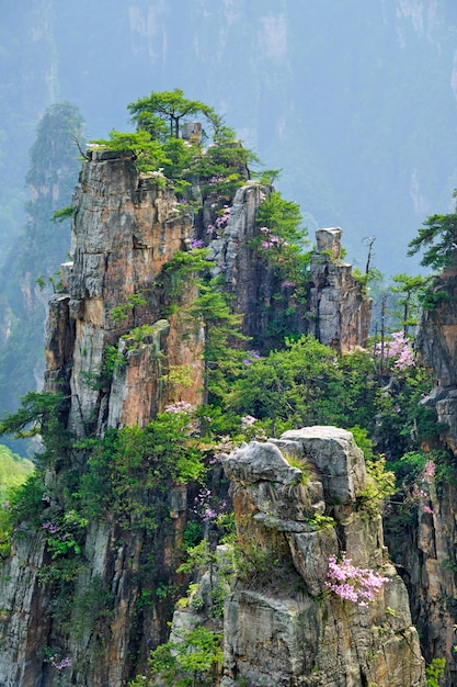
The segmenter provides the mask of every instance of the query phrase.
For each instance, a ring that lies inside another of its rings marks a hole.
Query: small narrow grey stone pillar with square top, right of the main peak
[[[339,227],[316,233],[317,249],[311,258],[310,315],[311,334],[339,351],[365,347],[372,322],[372,300],[352,273],[352,266],[341,260]]]

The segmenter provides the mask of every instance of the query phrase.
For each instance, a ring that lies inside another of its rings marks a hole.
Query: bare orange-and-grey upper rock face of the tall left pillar
[[[180,399],[198,403],[202,331],[187,331],[182,341],[180,318],[163,320],[157,285],[163,266],[188,243],[192,217],[178,214],[163,178],[138,176],[132,154],[93,150],[75,204],[73,262],[62,268],[67,293],[50,302],[46,338],[46,387],[71,396],[69,427],[87,435],[106,424],[144,426],[175,399],[163,383],[170,367],[191,368],[192,384],[179,390]],[[187,288],[187,302],[194,296]],[[128,334],[145,326],[140,340]],[[123,358],[111,384],[101,379],[106,346]]]

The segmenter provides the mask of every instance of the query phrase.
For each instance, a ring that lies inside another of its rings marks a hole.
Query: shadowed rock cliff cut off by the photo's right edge
[[[446,660],[443,686],[457,684],[455,653],[457,623],[457,275],[448,270],[436,278],[432,308],[424,309],[415,337],[415,348],[430,368],[433,387],[423,403],[434,407],[441,425],[442,444],[447,453],[447,474],[439,489],[432,474],[427,478],[427,498],[418,499],[410,522],[401,532],[392,532],[392,552],[404,570],[414,622],[421,633],[425,660]],[[433,295],[432,295],[433,297]],[[424,446],[427,450],[429,447]],[[404,541],[410,544],[404,547]],[[395,549],[393,549],[395,548]]]

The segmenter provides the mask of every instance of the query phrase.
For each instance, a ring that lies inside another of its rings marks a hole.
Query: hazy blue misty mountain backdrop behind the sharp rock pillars
[[[373,264],[386,275],[415,273],[409,240],[427,215],[454,209],[452,0],[1,0],[0,9],[0,410],[39,386],[49,277],[69,249],[68,224],[50,224],[77,182],[69,137],[75,167],[66,157],[64,174],[53,162],[57,185],[45,171],[53,136],[41,148],[54,190],[49,219],[33,213],[44,187],[30,150],[50,105],[72,109],[90,140],[133,128],[129,102],[182,89],[283,169],[276,185],[300,204],[311,239],[341,226],[347,259],[363,269],[363,239],[376,236]]]

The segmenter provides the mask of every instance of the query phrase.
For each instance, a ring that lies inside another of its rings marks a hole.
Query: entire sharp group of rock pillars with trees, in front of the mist
[[[212,108],[128,111],[78,139],[44,390],[0,425],[35,449],[1,684],[450,686],[454,215],[411,244],[441,275],[388,290]]]

